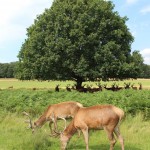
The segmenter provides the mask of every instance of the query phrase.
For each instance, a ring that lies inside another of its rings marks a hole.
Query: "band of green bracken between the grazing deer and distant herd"
[[[70,100],[81,102],[84,106],[113,104],[132,115],[141,111],[145,119],[150,119],[150,92],[148,90],[103,91],[92,94],[26,89],[0,91],[0,109],[9,112],[27,111],[37,115],[41,114],[50,104]]]

